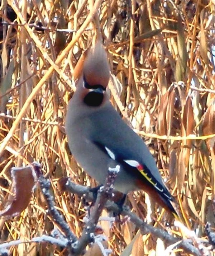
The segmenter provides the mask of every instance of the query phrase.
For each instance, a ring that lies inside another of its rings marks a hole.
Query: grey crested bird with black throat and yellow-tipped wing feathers
[[[123,194],[144,190],[178,216],[175,199],[148,147],[110,103],[106,91],[110,66],[102,43],[97,41],[81,63],[65,120],[72,155],[99,184],[104,184],[109,168],[119,166],[114,190]]]

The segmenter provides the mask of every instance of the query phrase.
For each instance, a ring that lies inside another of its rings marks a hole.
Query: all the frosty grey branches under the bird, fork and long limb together
[[[194,244],[192,244],[193,241],[190,240],[184,240],[181,241],[178,238],[173,237],[171,234],[167,233],[166,231],[154,228],[153,226],[145,223],[142,219],[137,217],[134,213],[130,211],[130,209],[127,206],[123,206],[122,209],[119,208],[117,204],[115,204],[113,201],[110,201],[110,198],[112,198],[112,192],[114,188],[114,181],[116,178],[116,175],[119,171],[119,166],[116,166],[115,168],[109,168],[109,175],[106,178],[105,185],[101,187],[97,193],[97,199],[96,202],[91,209],[91,213],[89,218],[86,221],[85,227],[83,228],[83,232],[81,237],[78,239],[75,234],[72,233],[70,230],[70,227],[66,223],[63,216],[59,213],[59,211],[54,206],[54,197],[50,193],[50,186],[51,182],[44,178],[41,171],[41,166],[38,163],[33,163],[30,166],[23,167],[23,169],[33,169],[35,176],[37,176],[37,180],[39,182],[39,186],[41,188],[41,191],[44,195],[44,198],[47,203],[48,208],[48,214],[51,217],[53,223],[55,223],[58,227],[59,231],[53,232],[51,236],[42,236],[42,237],[35,237],[32,239],[31,242],[49,242],[51,244],[56,244],[62,247],[65,247],[68,249],[68,251],[72,255],[80,255],[86,248],[86,246],[91,243],[97,243],[102,247],[101,243],[101,237],[95,236],[95,228],[97,226],[97,222],[99,221],[101,212],[104,208],[106,208],[108,211],[114,211],[115,213],[120,213],[121,215],[124,215],[132,221],[142,233],[147,234],[151,233],[153,236],[161,238],[163,241],[167,243],[167,245],[172,245],[174,247],[182,248],[185,252],[191,253],[195,256],[202,256],[205,255],[203,249],[205,247],[203,246],[203,242],[200,241],[196,237]],[[22,169],[22,168],[19,168]],[[16,174],[16,176],[19,175],[19,173]],[[87,201],[93,201],[94,195],[91,192],[89,187],[77,185],[73,182],[71,182],[68,178],[63,178],[60,181],[61,189],[62,191],[69,191],[71,193],[77,194],[78,196],[83,196]],[[17,185],[18,186],[18,185]],[[22,186],[22,184],[20,185]],[[206,233],[209,237],[209,242],[214,245],[214,234],[210,231],[210,227],[206,227]],[[208,241],[204,241],[207,242]],[[3,243],[0,245],[0,255],[2,253],[6,253],[6,248],[19,244],[21,241],[13,241],[10,243]],[[195,246],[194,246],[195,245]],[[200,249],[201,248],[201,249]],[[109,251],[107,251],[105,248],[102,248],[102,251],[105,253],[104,255],[107,255]]]

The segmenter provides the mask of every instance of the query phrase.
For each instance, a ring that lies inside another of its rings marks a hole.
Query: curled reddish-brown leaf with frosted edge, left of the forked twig
[[[36,174],[30,166],[12,168],[11,176],[13,178],[11,190],[14,195],[9,196],[5,209],[0,212],[0,216],[4,217],[14,217],[28,206],[35,185]]]

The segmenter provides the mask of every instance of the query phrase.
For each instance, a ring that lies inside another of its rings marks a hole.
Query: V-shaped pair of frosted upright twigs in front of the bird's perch
[[[35,169],[35,172],[42,173],[40,170],[40,166],[37,164],[33,164],[33,167]],[[50,193],[50,186],[51,183],[49,180],[44,178],[42,175],[39,175],[38,181],[39,185],[41,187],[42,193],[46,199],[46,203],[48,206],[48,214],[51,216],[53,222],[57,224],[59,229],[63,232],[66,239],[63,245],[68,248],[68,250],[72,253],[72,255],[80,255],[83,250],[85,250],[86,246],[95,241],[95,228],[97,226],[97,223],[99,221],[99,217],[101,215],[102,210],[104,209],[106,201],[111,197],[114,181],[116,178],[117,173],[119,172],[119,166],[116,166],[115,168],[109,168],[108,177],[106,178],[105,185],[101,187],[98,191],[97,198],[95,205],[93,206],[93,209],[91,210],[90,217],[87,220],[85,227],[83,228],[82,236],[77,239],[77,237],[71,232],[68,224],[63,219],[62,215],[59,214],[59,212],[54,207],[54,199],[53,196]],[[65,179],[64,179],[65,181]],[[87,192],[86,189],[84,189],[83,186],[82,192]],[[78,190],[78,185],[77,185]],[[80,193],[81,195],[81,193]],[[83,194],[82,194],[83,195]],[[58,242],[57,238],[53,238],[51,241]],[[43,239],[40,238],[34,238],[33,241],[35,242],[42,242],[42,241],[49,241],[49,237],[43,236]],[[67,242],[68,241],[68,242]]]

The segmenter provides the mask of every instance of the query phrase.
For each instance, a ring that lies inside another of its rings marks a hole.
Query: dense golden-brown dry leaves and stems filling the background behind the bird
[[[94,19],[89,15],[93,9],[98,10]],[[81,234],[86,204],[62,193],[58,181],[69,176],[96,185],[71,156],[64,122],[75,88],[73,70],[97,33],[110,61],[111,102],[143,136],[179,202],[184,224],[203,237],[205,223],[213,226],[215,214],[214,11],[213,0],[1,1],[1,209],[10,194],[10,168],[37,160],[52,182],[57,209]],[[166,225],[173,224],[172,217],[143,191],[130,193],[127,204],[140,218],[181,236]],[[113,255],[134,237],[132,255],[163,255],[165,245],[150,235],[136,235],[130,222],[101,225]],[[29,241],[52,229],[39,190],[20,217],[0,220],[1,242]],[[12,251],[66,255],[59,247],[35,243]]]

